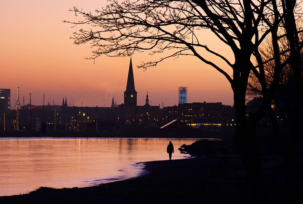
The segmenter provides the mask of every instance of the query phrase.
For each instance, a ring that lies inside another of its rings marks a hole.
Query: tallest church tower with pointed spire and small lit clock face
[[[132,70],[132,58],[129,63],[126,90],[124,92],[124,105],[137,106],[137,92],[135,90],[134,73]]]

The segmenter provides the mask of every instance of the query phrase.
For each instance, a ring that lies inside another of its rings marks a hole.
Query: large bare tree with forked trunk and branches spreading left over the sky
[[[235,142],[248,175],[252,197],[255,201],[264,202],[265,189],[256,145],[256,125],[270,106],[284,66],[280,58],[281,38],[278,35],[279,26],[284,25],[283,2],[126,0],[119,3],[110,0],[107,6],[95,12],[84,12],[74,7],[70,11],[75,12],[76,16],[80,15],[82,20],[64,22],[71,23],[73,27],[84,27],[75,32],[72,39],[77,45],[91,43],[94,50],[88,59],[96,59],[102,54],[123,57],[135,52],[148,52],[158,59],[142,62],[138,66],[147,69],[165,59],[188,55],[197,57],[224,75],[234,93]],[[296,6],[292,5],[292,8],[296,9]],[[201,43],[201,32],[204,29],[210,30],[228,47],[228,52],[233,54],[232,59],[226,50],[212,50]],[[274,64],[270,82],[265,75],[266,59],[259,49],[268,35],[272,39]],[[207,58],[205,52],[214,58]],[[218,62],[224,62],[224,65]],[[232,76],[227,71],[230,69]],[[248,117],[245,97],[251,72],[261,86],[263,101],[258,111]]]

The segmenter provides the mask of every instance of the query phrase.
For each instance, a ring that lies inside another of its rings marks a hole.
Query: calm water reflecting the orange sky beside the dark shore
[[[85,187],[138,176],[137,162],[185,158],[178,148],[197,139],[0,138],[0,196],[40,186]]]

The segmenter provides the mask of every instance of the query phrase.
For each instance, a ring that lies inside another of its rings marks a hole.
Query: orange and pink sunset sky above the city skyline
[[[69,39],[81,26],[63,20],[75,18],[69,8],[76,6],[84,11],[94,11],[107,2],[97,0],[64,1],[2,1],[0,6],[1,25],[1,81],[0,88],[11,89],[11,104],[20,89],[20,103],[62,104],[67,96],[68,105],[109,107],[112,96],[117,104],[123,103],[126,88],[129,57],[111,58],[105,55],[92,60],[90,45],[74,45]],[[201,31],[202,44],[220,50],[229,56],[228,49],[216,41],[208,31]],[[148,53],[132,55],[137,104],[144,105],[148,90],[151,105],[178,104],[178,87],[188,87],[188,102],[222,102],[233,105],[233,93],[227,79],[214,68],[195,57],[182,56],[167,59],[156,67],[143,72],[136,69],[142,61],[150,61]],[[231,57],[231,56],[229,56]],[[208,58],[210,59],[210,58]],[[222,65],[225,68],[224,65]],[[225,69],[231,75],[231,69]]]

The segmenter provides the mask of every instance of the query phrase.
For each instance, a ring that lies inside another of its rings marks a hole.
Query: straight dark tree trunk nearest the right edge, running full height
[[[291,96],[291,132],[288,146],[286,148],[285,166],[288,178],[288,199],[290,203],[296,203],[299,195],[297,178],[297,149],[302,116],[302,61],[299,48],[296,20],[294,16],[295,0],[283,1],[283,12],[285,19],[285,31],[290,46],[291,68],[293,73],[293,93]]]

